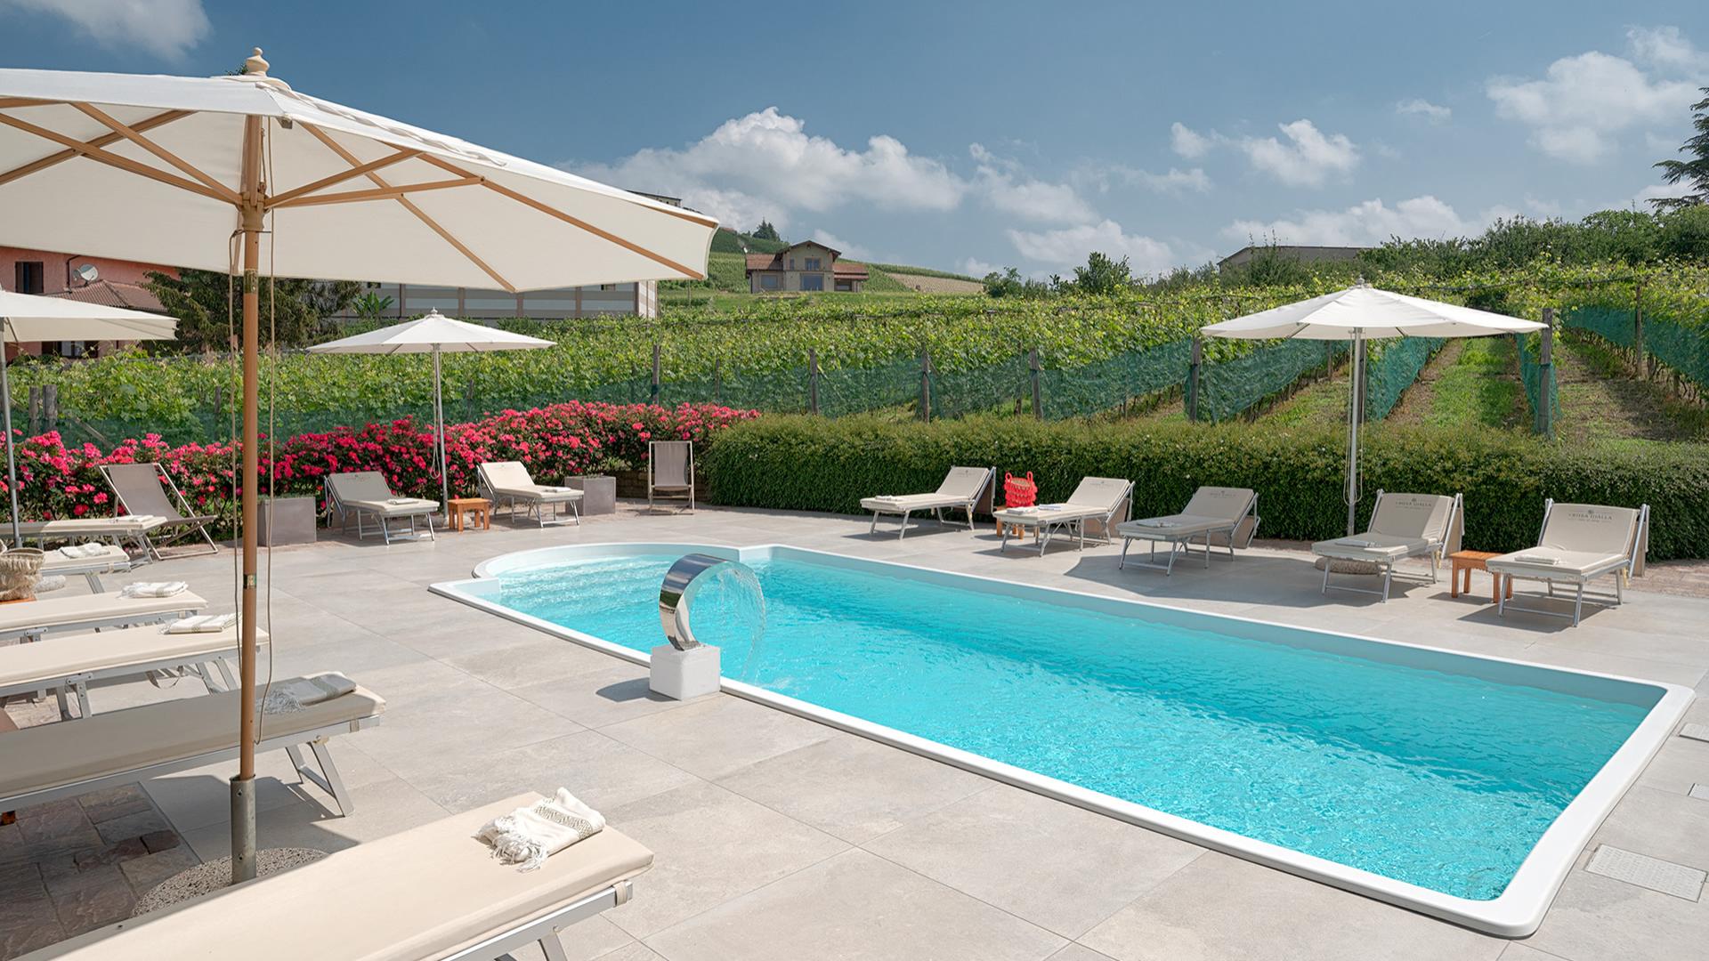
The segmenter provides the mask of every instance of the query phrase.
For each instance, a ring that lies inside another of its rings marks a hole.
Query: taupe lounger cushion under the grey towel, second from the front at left
[[[174,634],[186,636],[186,634]],[[188,634],[195,636],[195,634]],[[41,646],[56,641],[41,641]],[[0,739],[0,797],[89,781],[238,747],[238,691],[159,701]],[[284,737],[376,716],[386,703],[355,691],[301,711],[261,716],[261,737]]]

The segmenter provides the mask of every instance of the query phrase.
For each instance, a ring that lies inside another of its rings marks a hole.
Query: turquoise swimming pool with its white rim
[[[434,590],[644,660],[690,551],[766,592],[752,658],[696,617],[733,693],[1495,934],[1535,930],[1690,699],[793,547],[550,547]]]

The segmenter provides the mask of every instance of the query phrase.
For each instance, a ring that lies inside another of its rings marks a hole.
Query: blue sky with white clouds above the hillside
[[[1702,0],[1287,7],[0,0],[0,63],[258,44],[304,92],[742,229],[1032,275],[1630,205],[1709,85]]]

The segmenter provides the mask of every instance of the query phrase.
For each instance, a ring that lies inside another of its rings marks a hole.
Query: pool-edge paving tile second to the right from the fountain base
[[[718,783],[851,845],[993,787],[960,768],[846,734],[738,768]]]

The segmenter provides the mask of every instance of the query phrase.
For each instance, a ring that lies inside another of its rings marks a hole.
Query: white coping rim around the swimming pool
[[[1591,778],[1591,781],[1567,804],[1565,811],[1555,817],[1555,821],[1543,831],[1543,836],[1536,841],[1526,858],[1519,864],[1514,872],[1512,881],[1502,891],[1501,896],[1489,901],[1475,901],[1468,898],[1456,898],[1453,894],[1444,894],[1441,891],[1432,891],[1417,884],[1408,884],[1405,881],[1396,881],[1391,877],[1383,877],[1367,870],[1336,864],[1326,858],[1248,838],[1244,834],[1236,834],[1220,828],[1212,828],[1208,824],[1200,824],[1196,821],[1188,821],[1164,811],[1155,811],[1131,800],[1123,800],[1107,793],[1087,790],[1084,787],[1061,781],[1058,778],[1049,778],[1027,771],[1024,768],[1015,768],[1001,761],[993,761],[979,754],[971,754],[947,744],[938,744],[935,740],[926,740],[913,734],[896,730],[890,727],[877,725],[858,716],[844,715],[841,711],[832,711],[820,708],[817,705],[788,698],[764,687],[752,684],[743,684],[740,681],[723,679],[721,687],[728,694],[747,698],[762,705],[769,705],[820,723],[827,723],[851,734],[870,737],[904,751],[911,751],[926,758],[933,758],[957,768],[964,768],[1025,790],[1042,793],[1089,811],[1107,814],[1111,817],[1119,817],[1123,821],[1140,824],[1201,845],[1213,848],[1239,858],[1265,864],[1301,877],[1309,877],[1324,884],[1331,884],[1343,891],[1352,891],[1379,901],[1398,905],[1408,910],[1415,910],[1430,917],[1437,917],[1453,923],[1459,923],[1475,930],[1502,935],[1502,937],[1526,937],[1533,934],[1543,922],[1543,915],[1548,911],[1550,903],[1555,899],[1555,893],[1560,889],[1562,881],[1565,881],[1567,872],[1572,869],[1577,855],[1589,843],[1591,834],[1603,822],[1615,804],[1625,795],[1627,788],[1637,780],[1639,773],[1656,754],[1666,737],[1680,723],[1685,715],[1687,706],[1692,703],[1694,691],[1690,687],[1682,687],[1678,684],[1666,684],[1659,681],[1642,681],[1634,677],[1620,677],[1613,674],[1598,674],[1588,670],[1572,670],[1564,667],[1547,667],[1538,663],[1528,663],[1523,660],[1489,657],[1463,653],[1448,648],[1436,648],[1429,645],[1413,645],[1403,641],[1388,641],[1381,638],[1365,638],[1359,634],[1338,633],[1338,631],[1321,631],[1316,628],[1299,628],[1295,624],[1282,624],[1275,621],[1263,621],[1256,617],[1237,617],[1229,614],[1210,614],[1201,610],[1188,610],[1181,607],[1171,607],[1166,604],[1157,604],[1150,600],[1133,600],[1133,598],[1116,598],[1104,597],[1087,592],[1054,588],[1054,587],[1036,587],[1022,585],[1015,581],[1005,581],[1000,578],[990,578],[981,575],[966,575],[957,571],[943,571],[937,568],[921,568],[914,564],[899,564],[894,561],[872,561],[866,557],[853,557],[848,554],[836,554],[827,551],[810,551],[803,547],[791,547],[786,544],[762,544],[755,547],[726,547],[714,544],[680,544],[680,542],[607,542],[607,544],[576,544],[576,545],[557,545],[557,547],[540,547],[533,551],[518,551],[511,554],[501,554],[490,557],[475,566],[473,578],[460,581],[443,581],[431,587],[434,593],[460,600],[472,607],[497,614],[509,621],[520,624],[528,624],[547,634],[564,638],[605,653],[617,655],[620,658],[648,663],[649,657],[646,653],[631,650],[612,641],[584,634],[564,628],[561,624],[552,624],[540,617],[523,614],[504,607],[492,600],[492,593],[499,588],[497,576],[508,571],[542,568],[567,564],[574,561],[586,561],[590,557],[610,557],[610,556],[631,556],[631,554],[670,554],[670,552],[704,552],[718,557],[728,557],[733,561],[757,563],[769,559],[774,554],[786,552],[810,557],[813,563],[843,566],[863,571],[880,571],[880,573],[902,573],[914,580],[923,580],[928,583],[954,583],[955,587],[966,590],[981,590],[988,593],[1000,593],[1007,597],[1032,598],[1048,604],[1068,605],[1085,610],[1097,610],[1114,616],[1133,616],[1143,610],[1147,619],[1162,622],[1186,622],[1186,621],[1203,621],[1212,619],[1217,622],[1237,622],[1248,626],[1248,633],[1256,633],[1260,636],[1271,634],[1273,640],[1282,643],[1287,634],[1309,634],[1314,638],[1333,640],[1328,648],[1316,646],[1316,650],[1333,650],[1336,646],[1347,646],[1348,643],[1357,643],[1364,648],[1365,645],[1381,645],[1379,650],[1389,650],[1398,655],[1401,662],[1436,662],[1436,669],[1482,669],[1480,677],[1495,675],[1516,675],[1524,674],[1533,679],[1548,677],[1550,681],[1562,686],[1562,689],[1574,687],[1601,687],[1606,693],[1610,682],[1618,684],[1636,684],[1642,687],[1653,687],[1661,691],[1654,706],[1637,725],[1632,735],[1620,746],[1618,751],[1603,764],[1603,768]],[[661,634],[663,643],[663,634]],[[1369,650],[1362,651],[1369,657]],[[1490,670],[1492,665],[1504,665]]]

